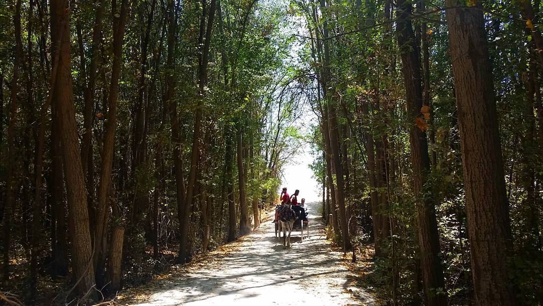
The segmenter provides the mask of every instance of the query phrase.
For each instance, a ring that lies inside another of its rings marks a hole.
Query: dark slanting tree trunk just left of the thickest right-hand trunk
[[[424,186],[430,171],[430,157],[426,133],[414,123],[420,117],[422,107],[422,89],[420,76],[419,46],[411,25],[411,2],[399,0],[397,3],[397,40],[401,49],[403,81],[406,88],[406,102],[411,121],[409,143],[413,167],[413,189],[416,198],[416,220],[418,224],[419,247],[422,264],[422,277],[428,306],[446,304],[446,295],[437,294],[445,290],[443,267],[439,257],[439,234],[435,207],[431,198],[427,198]]]

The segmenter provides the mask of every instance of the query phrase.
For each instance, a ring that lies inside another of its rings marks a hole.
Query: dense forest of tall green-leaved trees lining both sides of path
[[[113,305],[270,227],[302,147],[383,304],[543,305],[541,9],[3,0],[0,305]]]

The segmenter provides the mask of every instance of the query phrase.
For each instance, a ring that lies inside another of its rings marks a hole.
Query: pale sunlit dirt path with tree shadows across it
[[[310,203],[310,213],[317,204]],[[311,220],[311,215],[310,215]],[[274,237],[273,223],[231,243],[228,252],[213,252],[187,271],[151,283],[153,293],[137,288],[122,292],[130,306],[212,305],[376,305],[369,293],[353,288],[342,253],[326,241],[324,227],[311,220],[310,236],[293,233],[290,249]],[[227,246],[227,247],[228,247]],[[127,300],[132,299],[132,302]]]

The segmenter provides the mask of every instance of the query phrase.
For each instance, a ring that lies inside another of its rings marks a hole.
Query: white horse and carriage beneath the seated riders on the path
[[[304,241],[304,230],[306,231],[306,237],[309,238],[309,220],[306,216],[305,210],[299,206],[295,205],[285,205],[283,206],[280,213],[279,221],[275,222],[275,236],[279,241],[281,241],[281,231],[283,232],[283,245],[287,243],[290,247],[290,238],[292,232],[300,231],[301,240]],[[283,215],[288,216],[288,214],[283,214],[287,210],[292,211],[294,216],[283,217]],[[287,234],[288,232],[288,234]],[[277,236],[279,233],[279,236]],[[288,235],[288,237],[287,237]],[[288,239],[288,240],[287,240]]]

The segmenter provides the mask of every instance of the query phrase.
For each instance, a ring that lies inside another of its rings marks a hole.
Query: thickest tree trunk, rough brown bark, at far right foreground
[[[511,232],[487,35],[480,4],[447,0],[475,305],[515,305]]]

